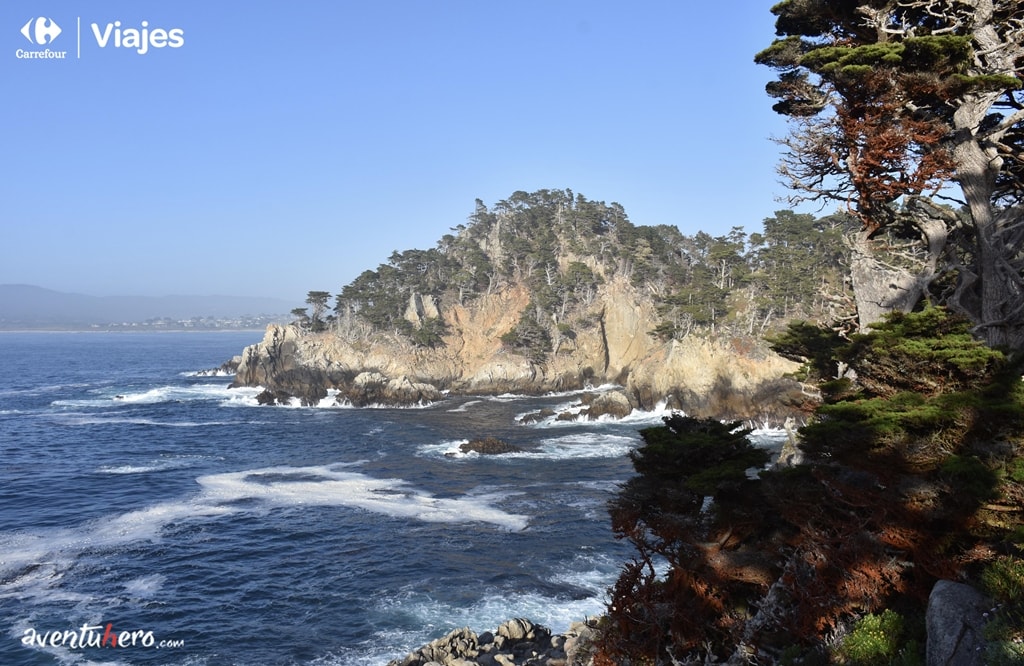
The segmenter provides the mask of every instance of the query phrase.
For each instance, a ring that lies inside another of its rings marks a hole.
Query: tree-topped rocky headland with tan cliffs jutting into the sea
[[[755,293],[767,287],[740,293],[724,237],[546,190],[478,201],[454,230],[365,270],[333,307],[309,292],[310,310],[245,349],[234,385],[262,386],[265,404],[355,407],[616,387],[581,418],[660,407],[781,424],[816,404],[761,338],[777,308]]]

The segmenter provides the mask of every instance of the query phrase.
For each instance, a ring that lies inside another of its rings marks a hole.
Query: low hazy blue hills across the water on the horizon
[[[0,285],[0,330],[70,329],[154,319],[280,316],[293,303],[240,296],[88,296],[33,285]]]

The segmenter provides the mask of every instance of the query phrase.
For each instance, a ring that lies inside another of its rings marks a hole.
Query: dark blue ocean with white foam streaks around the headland
[[[0,664],[383,666],[603,611],[606,503],[662,414],[261,407],[203,372],[261,337],[0,334]],[[521,451],[459,452],[487,435]]]

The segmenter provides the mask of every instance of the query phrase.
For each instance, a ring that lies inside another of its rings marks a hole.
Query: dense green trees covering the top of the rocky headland
[[[488,207],[477,200],[466,223],[430,249],[395,251],[386,263],[342,287],[333,321],[357,318],[421,344],[438,344],[443,322],[424,333],[404,313],[411,297],[445,305],[524,285],[531,307],[506,340],[550,351],[559,329],[587,326],[602,285],[626,281],[653,300],[663,339],[694,332],[760,334],[793,318],[826,322],[852,316],[844,283],[843,234],[852,218],[817,218],[783,210],[762,232],[741,226],[719,237],[676,226],[637,225],[615,203],[569,190],[516,192]],[[308,303],[319,326],[323,292]],[[439,318],[443,319],[443,318]],[[540,348],[538,348],[540,345]]]

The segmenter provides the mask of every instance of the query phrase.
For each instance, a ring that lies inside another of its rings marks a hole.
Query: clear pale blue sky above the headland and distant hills
[[[4,0],[0,284],[298,305],[518,190],[761,231],[772,4]]]

